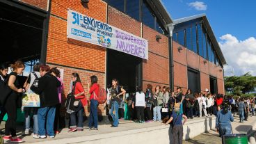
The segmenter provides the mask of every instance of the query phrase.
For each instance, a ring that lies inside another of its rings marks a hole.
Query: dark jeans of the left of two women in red
[[[83,129],[83,104],[81,102],[76,111],[70,115],[70,128]]]

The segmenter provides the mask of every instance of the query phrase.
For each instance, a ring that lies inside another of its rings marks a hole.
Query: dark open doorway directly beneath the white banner
[[[142,83],[142,58],[107,49],[106,83],[111,85],[112,79],[118,79],[127,93],[134,93],[136,86]]]

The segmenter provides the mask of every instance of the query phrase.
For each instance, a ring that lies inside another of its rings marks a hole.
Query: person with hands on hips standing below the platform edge
[[[184,118],[183,123],[182,118]],[[170,119],[165,123],[166,125],[168,125],[170,122],[173,121],[169,129],[170,133],[173,134],[173,143],[182,144],[183,125],[185,124],[186,120],[186,115],[180,113],[180,108],[175,106],[173,113],[170,116]]]

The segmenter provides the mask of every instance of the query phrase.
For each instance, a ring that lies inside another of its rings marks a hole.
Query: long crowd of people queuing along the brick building
[[[29,74],[26,82],[19,83],[18,74],[22,74],[25,65],[22,61],[16,61],[11,65],[12,72],[7,75],[8,65],[1,65],[0,77],[2,83],[10,88],[11,93],[0,106],[2,121],[7,113],[8,120],[5,125],[4,140],[13,143],[22,143],[22,139],[16,135],[17,108],[22,93],[33,92],[40,96],[40,107],[24,107],[25,129],[24,135],[29,135],[31,115],[33,117],[33,138],[54,138],[59,133],[59,121],[61,118],[61,103],[64,83],[61,80],[61,72],[57,67],[49,65],[34,65],[33,72]],[[67,95],[65,109],[70,118],[69,130],[83,131],[84,128],[98,130],[97,106],[99,102],[99,84],[97,76],[90,77],[88,90],[84,90],[78,73],[70,75],[70,92]],[[147,84],[145,93],[142,87],[136,88],[136,93],[126,95],[126,90],[119,86],[118,79],[112,79],[111,86],[106,88],[106,114],[109,115],[111,127],[118,127],[119,120],[128,119],[138,123],[161,121],[168,125],[171,123],[175,143],[180,143],[183,137],[182,125],[187,118],[208,117],[216,115],[216,129],[223,134],[230,134],[232,130],[230,122],[233,115],[239,113],[240,122],[248,120],[249,112],[255,115],[255,99],[234,99],[231,96],[213,94],[209,91],[193,93],[191,89],[183,92],[177,87],[173,92],[170,88]],[[90,95],[88,98],[86,95]],[[83,127],[84,107],[90,102],[90,115],[87,127]],[[126,113],[126,114],[125,114]],[[126,117],[125,117],[126,115]],[[128,115],[128,116],[127,116]],[[182,122],[182,118],[184,122]]]

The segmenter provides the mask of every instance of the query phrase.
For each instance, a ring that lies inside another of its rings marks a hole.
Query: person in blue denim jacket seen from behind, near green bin
[[[231,134],[231,122],[234,121],[231,111],[228,110],[228,102],[225,102],[223,105],[223,109],[218,111],[216,116],[216,131],[219,132],[220,136]]]

